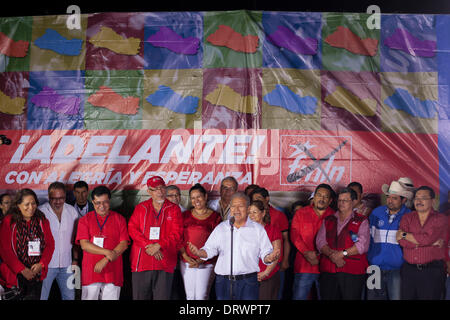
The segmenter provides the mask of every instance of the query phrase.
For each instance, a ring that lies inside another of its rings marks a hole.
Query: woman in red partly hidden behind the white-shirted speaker
[[[273,250],[281,250],[281,232],[273,224],[270,224],[269,212],[265,210],[264,203],[260,200],[255,200],[250,203],[248,207],[248,216],[255,222],[260,223],[266,229],[267,236],[272,242]],[[283,257],[280,255],[278,261],[282,261]],[[259,300],[277,300],[278,291],[280,289],[280,274],[278,270],[280,266],[278,263],[265,265],[262,260],[259,260]]]

